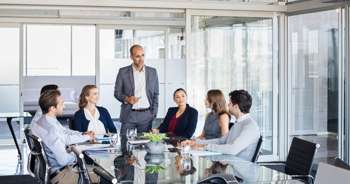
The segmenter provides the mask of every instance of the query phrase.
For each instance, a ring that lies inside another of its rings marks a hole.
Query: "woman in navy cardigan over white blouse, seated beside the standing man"
[[[92,130],[96,134],[117,133],[107,109],[95,105],[98,95],[96,86],[84,86],[79,96],[79,110],[74,115],[74,128],[79,132]]]

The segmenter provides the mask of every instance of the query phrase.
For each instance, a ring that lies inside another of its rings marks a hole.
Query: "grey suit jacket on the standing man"
[[[133,74],[133,65],[126,66],[119,69],[116,86],[114,87],[114,97],[121,102],[121,111],[119,121],[126,123],[130,117],[132,104],[125,104],[125,99],[128,96],[134,96],[135,83]],[[152,67],[144,65],[146,69],[146,93],[151,112],[157,116],[158,113],[158,95],[159,83],[157,70]]]

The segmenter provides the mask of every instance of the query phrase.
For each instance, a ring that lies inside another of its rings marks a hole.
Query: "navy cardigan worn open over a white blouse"
[[[117,128],[114,126],[111,115],[106,108],[96,106],[100,113],[100,120],[105,126],[106,132],[117,133]],[[79,132],[86,132],[90,121],[86,119],[84,110],[77,111],[74,114],[74,129]],[[108,131],[109,130],[109,131]]]

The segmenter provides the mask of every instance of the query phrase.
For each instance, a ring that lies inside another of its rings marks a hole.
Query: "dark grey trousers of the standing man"
[[[137,128],[137,133],[148,132],[152,130],[153,115],[151,110],[136,112],[131,111],[130,117],[126,123],[122,123],[120,134],[126,134],[128,129]]]

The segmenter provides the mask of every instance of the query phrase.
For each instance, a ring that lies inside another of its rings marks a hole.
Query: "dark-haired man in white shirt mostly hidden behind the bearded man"
[[[41,88],[40,95],[43,94],[45,91],[48,90],[59,90],[58,86],[55,84],[49,84]],[[32,128],[36,124],[37,120],[40,119],[42,116],[42,110],[39,108],[39,110],[36,111],[35,116],[30,122],[29,126],[29,132],[31,132]],[[65,140],[65,145],[72,145],[78,142],[85,142],[88,140],[93,140],[94,139],[94,133],[93,131],[90,132],[78,132],[78,131],[73,131],[70,130],[69,128],[63,127],[61,123],[58,123],[59,128],[62,130],[63,135],[64,135],[64,140]]]

